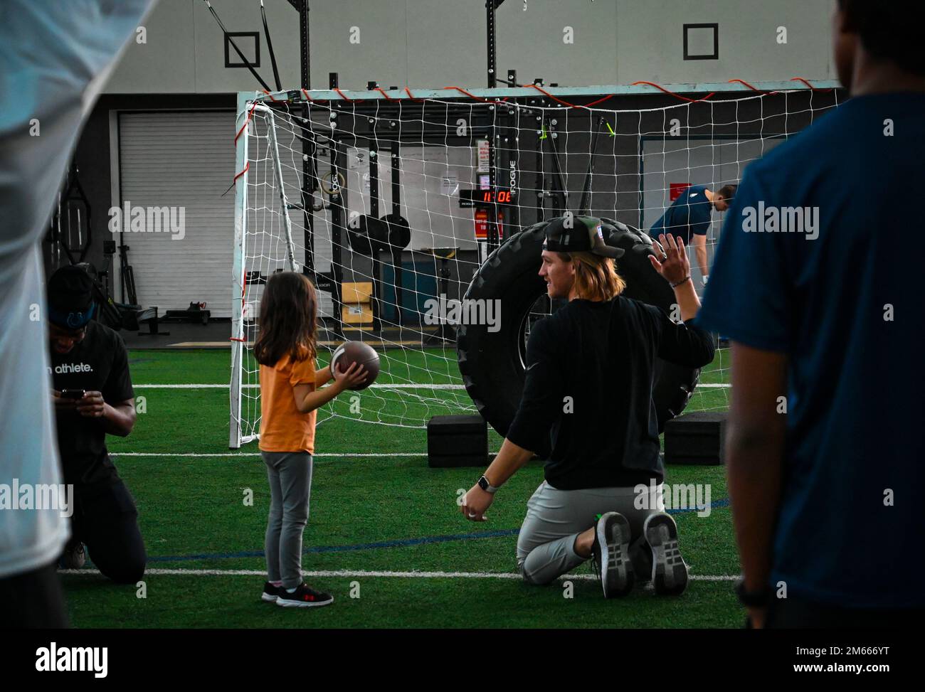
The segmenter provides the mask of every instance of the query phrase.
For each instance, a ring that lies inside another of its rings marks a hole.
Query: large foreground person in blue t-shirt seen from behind
[[[925,614],[925,5],[840,0],[851,98],[746,168],[697,323],[729,336],[726,464],[755,627]],[[882,204],[870,204],[870,200]]]

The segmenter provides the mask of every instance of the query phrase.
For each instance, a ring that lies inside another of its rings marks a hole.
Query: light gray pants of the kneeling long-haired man
[[[526,503],[526,517],[517,538],[517,566],[531,584],[549,584],[586,561],[574,551],[575,537],[595,525],[598,514],[619,512],[626,517],[633,539],[642,537],[649,514],[665,511],[661,484],[646,492],[635,488],[560,490],[545,480]],[[636,505],[641,509],[636,509]]]

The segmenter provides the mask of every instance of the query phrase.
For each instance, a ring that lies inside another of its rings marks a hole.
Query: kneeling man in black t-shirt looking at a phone
[[[106,451],[106,435],[126,437],[135,425],[129,359],[118,334],[93,320],[93,279],[76,266],[48,281],[51,375],[64,482],[74,487],[66,567],[84,561],[84,545],[100,572],[120,584],[142,578],[147,555],[135,501]]]

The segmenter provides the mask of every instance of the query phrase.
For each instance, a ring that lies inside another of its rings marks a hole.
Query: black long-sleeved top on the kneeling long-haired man
[[[575,299],[531,330],[524,396],[507,438],[530,451],[551,448],[545,475],[554,488],[660,483],[655,359],[702,367],[713,353],[693,319],[675,323],[623,296]]]

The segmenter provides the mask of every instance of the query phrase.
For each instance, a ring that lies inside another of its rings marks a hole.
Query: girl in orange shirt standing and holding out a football
[[[302,531],[312,488],[315,410],[366,379],[361,365],[315,370],[314,286],[295,272],[274,274],[260,303],[253,354],[260,364],[260,454],[270,482],[267,582],[261,597],[288,608],[326,606],[330,594],[302,583]],[[319,385],[334,383],[318,389]]]

